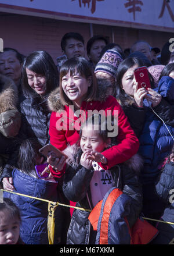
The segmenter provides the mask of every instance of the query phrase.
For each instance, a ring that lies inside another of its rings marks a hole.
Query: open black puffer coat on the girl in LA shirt
[[[63,183],[64,195],[68,200],[77,202],[77,207],[92,209],[89,183],[94,170],[93,168],[88,170],[78,163],[82,151],[77,145],[67,147],[64,152],[69,157]],[[130,196],[131,214],[127,216],[130,226],[136,222],[142,209],[142,187],[136,175],[136,171],[140,169],[140,166],[142,166],[142,159],[139,155],[134,155],[129,161],[111,169],[114,186]],[[95,243],[94,232],[92,226],[90,226],[88,216],[89,212],[74,209],[67,234],[67,244]]]

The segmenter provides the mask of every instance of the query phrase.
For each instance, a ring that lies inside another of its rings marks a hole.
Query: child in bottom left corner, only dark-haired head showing
[[[0,244],[23,244],[20,236],[20,212],[9,199],[0,203]]]

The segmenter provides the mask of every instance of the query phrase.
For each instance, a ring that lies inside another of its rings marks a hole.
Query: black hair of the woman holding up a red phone
[[[116,72],[116,98],[121,103],[121,105],[128,105],[134,103],[134,99],[125,93],[122,89],[122,77],[126,73],[126,71],[130,68],[137,65],[138,67],[144,66],[143,59],[135,57],[128,57],[122,61]],[[154,79],[153,76],[148,72],[148,76],[150,78],[151,88],[154,88]]]

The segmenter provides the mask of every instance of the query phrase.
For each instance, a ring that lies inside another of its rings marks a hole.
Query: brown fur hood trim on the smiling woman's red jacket
[[[96,94],[96,101],[104,102],[106,101],[108,94],[107,88],[112,86],[111,81],[107,79],[97,79],[98,89]],[[60,99],[60,88],[56,88],[48,96],[48,108],[50,111],[59,111],[64,109],[64,106],[61,104]]]

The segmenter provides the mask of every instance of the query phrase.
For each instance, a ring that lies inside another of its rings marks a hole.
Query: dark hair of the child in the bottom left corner
[[[9,218],[17,218],[21,222],[21,216],[19,208],[9,198],[3,198],[3,202],[0,203],[0,212],[5,211],[9,214]]]

